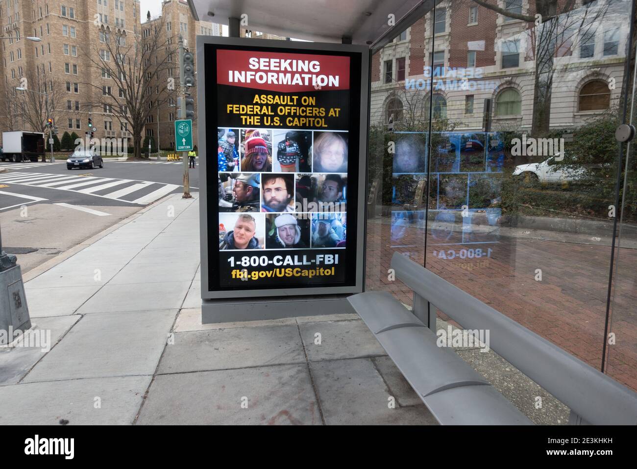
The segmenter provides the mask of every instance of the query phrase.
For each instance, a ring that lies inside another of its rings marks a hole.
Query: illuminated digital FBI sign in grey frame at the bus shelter
[[[362,292],[368,49],[197,40],[202,297]]]

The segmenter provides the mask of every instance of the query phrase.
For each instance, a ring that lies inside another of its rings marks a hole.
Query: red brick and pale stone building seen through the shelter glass
[[[535,15],[533,1],[497,4]],[[554,54],[551,128],[581,125],[619,103],[626,11],[627,1],[577,0],[561,16],[568,27]],[[455,130],[482,130],[486,99],[492,100],[492,129],[530,130],[538,27],[471,0],[442,2],[432,16],[427,13],[372,57],[371,123],[401,119],[419,105],[428,115],[433,89],[433,116],[447,117]]]

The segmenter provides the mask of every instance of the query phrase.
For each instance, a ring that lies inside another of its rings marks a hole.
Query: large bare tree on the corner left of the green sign
[[[142,25],[141,34],[99,26],[100,41],[89,50],[92,68],[108,82],[90,82],[97,90],[90,103],[127,123],[132,133],[134,158],[141,156],[142,131],[148,116],[157,113],[171,93],[168,69],[175,65],[176,41],[165,33],[164,18]],[[178,81],[176,79],[175,81]],[[108,91],[107,86],[115,86]],[[175,86],[178,86],[176,84]]]

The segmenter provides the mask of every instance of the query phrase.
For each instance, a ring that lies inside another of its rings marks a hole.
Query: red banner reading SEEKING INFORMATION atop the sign
[[[349,57],[217,50],[220,85],[281,93],[349,89],[349,70]]]

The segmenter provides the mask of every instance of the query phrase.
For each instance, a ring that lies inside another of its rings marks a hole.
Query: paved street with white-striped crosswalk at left
[[[0,162],[4,249],[23,272],[89,239],[141,208],[182,192],[182,161],[110,161],[68,170],[55,163]],[[3,170],[6,170],[3,172]],[[198,170],[190,170],[197,190]]]

